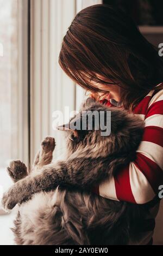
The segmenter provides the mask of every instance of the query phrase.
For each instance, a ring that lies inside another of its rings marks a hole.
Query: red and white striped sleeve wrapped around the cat
[[[149,102],[136,160],[101,183],[99,194],[109,199],[145,204],[155,197],[160,184],[163,184],[163,90]]]

